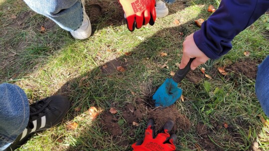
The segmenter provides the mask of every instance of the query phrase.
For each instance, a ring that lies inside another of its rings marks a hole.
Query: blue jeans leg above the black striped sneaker
[[[6,149],[26,128],[29,102],[25,92],[14,84],[0,84],[0,151]]]

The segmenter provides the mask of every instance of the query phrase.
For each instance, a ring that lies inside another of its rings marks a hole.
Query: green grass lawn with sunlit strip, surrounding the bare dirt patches
[[[217,8],[219,1],[187,0],[185,7],[177,5],[179,2],[171,4],[168,16],[157,18],[154,26],[147,25],[134,32],[126,28],[124,20],[115,21],[122,11],[117,11],[117,3],[108,3],[112,11],[93,23],[95,33],[87,40],[75,40],[57,25],[40,33],[40,27],[50,21],[48,18],[32,12],[23,1],[0,0],[0,82],[19,85],[30,103],[55,93],[68,95],[72,103],[60,125],[36,134],[18,151],[130,150],[130,146],[143,137],[146,117],[136,128],[124,123],[123,134],[115,141],[101,128],[102,116],[89,120],[88,108],[97,106],[108,110],[116,106],[120,109],[127,103],[135,106],[136,96],[147,95],[145,89],[154,92],[154,87],[170,77],[170,71],[176,71],[175,63],[180,62],[185,36],[199,29],[194,20],[208,18],[207,6],[213,4]],[[13,14],[17,18],[12,19]],[[227,55],[202,65],[209,75],[215,75],[213,79],[203,77],[199,83],[184,79],[179,85],[185,101],[177,101],[176,107],[190,119],[191,128],[188,132],[177,131],[177,150],[198,151],[195,144],[201,139],[196,132],[199,123],[212,131],[208,136],[211,142],[225,151],[246,151],[253,142],[258,142],[262,150],[269,150],[268,128],[257,118],[259,114],[266,115],[255,95],[255,79],[241,74],[231,80],[226,77],[232,74],[224,77],[217,71],[218,67],[242,60],[261,61],[269,54],[265,35],[268,17],[263,15],[236,36],[233,50]],[[180,25],[173,24],[175,18]],[[250,56],[244,56],[244,51],[250,51]],[[132,55],[125,56],[124,52]],[[160,52],[168,55],[160,57]],[[127,59],[126,72],[101,72],[99,67],[111,56],[122,62]],[[161,69],[167,61],[169,69]],[[75,112],[77,107],[81,111]],[[69,122],[77,122],[79,127],[68,130]],[[230,129],[223,128],[224,122]],[[222,128],[216,129],[214,123]],[[131,131],[134,131],[132,137]],[[121,146],[119,140],[129,145]]]

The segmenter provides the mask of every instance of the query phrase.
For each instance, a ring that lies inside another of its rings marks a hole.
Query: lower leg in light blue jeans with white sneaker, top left
[[[86,39],[92,33],[85,11],[85,0],[24,0],[35,12],[42,14],[77,39]]]

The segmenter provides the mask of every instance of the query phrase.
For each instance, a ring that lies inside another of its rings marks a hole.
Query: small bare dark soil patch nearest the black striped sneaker
[[[123,133],[118,123],[118,118],[111,114],[109,111],[106,111],[102,115],[101,124],[103,125],[103,130],[110,132],[113,136],[120,135]]]

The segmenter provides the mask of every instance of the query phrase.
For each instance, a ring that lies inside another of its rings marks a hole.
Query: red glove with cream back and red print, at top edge
[[[127,27],[130,31],[141,28],[149,23],[151,26],[156,20],[155,0],[119,0],[125,11]]]

